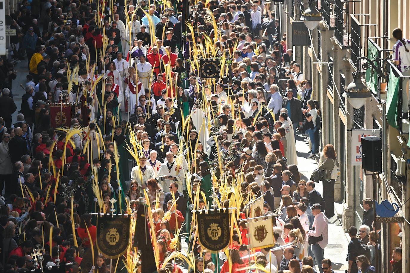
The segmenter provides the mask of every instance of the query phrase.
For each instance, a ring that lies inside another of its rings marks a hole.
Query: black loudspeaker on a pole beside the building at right
[[[382,140],[376,136],[362,138],[362,168],[369,172],[382,171]]]

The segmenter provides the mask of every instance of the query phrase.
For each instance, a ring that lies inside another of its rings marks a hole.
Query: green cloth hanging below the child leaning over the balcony
[[[389,83],[387,85],[386,119],[390,126],[399,128],[397,112],[399,105],[399,80],[390,68]]]

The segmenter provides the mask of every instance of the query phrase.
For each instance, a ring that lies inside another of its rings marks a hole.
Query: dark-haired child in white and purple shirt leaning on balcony
[[[404,76],[410,76],[410,40],[403,39],[403,32],[400,28],[395,28],[392,34],[396,39],[396,44],[393,46],[393,61]],[[405,88],[408,80],[408,77],[403,78],[403,119],[409,118],[409,98]]]

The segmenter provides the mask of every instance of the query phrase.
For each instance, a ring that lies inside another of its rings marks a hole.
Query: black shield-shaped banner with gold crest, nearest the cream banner
[[[218,251],[226,248],[230,241],[229,213],[227,209],[195,213],[198,223],[199,243],[206,249]]]

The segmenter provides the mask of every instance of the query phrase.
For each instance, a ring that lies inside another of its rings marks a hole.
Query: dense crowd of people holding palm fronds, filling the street
[[[134,213],[142,197],[152,209],[159,273],[182,273],[181,260],[167,259],[182,253],[181,240],[194,253],[193,273],[313,273],[316,266],[333,273],[324,249],[339,163],[333,145],[319,141],[312,82],[293,61],[273,6],[263,0],[190,4],[194,27],[187,32],[178,0],[22,0],[11,14],[16,35],[7,60],[0,59],[5,272],[38,266],[37,245],[44,266],[127,271],[126,257],[114,267],[116,261],[98,252],[89,255],[96,243],[90,213],[112,206]],[[196,64],[211,57],[229,67],[216,81],[200,78]],[[23,60],[27,83],[13,120],[11,82]],[[52,127],[53,103],[73,105],[70,126]],[[301,179],[298,137],[310,142],[309,159],[321,150],[326,158],[319,166],[323,197],[318,181]],[[222,258],[198,243],[191,211],[213,203],[229,207],[235,188],[243,201],[239,230],[232,229],[229,255]],[[248,245],[245,204],[262,195],[264,214],[278,213],[273,236],[280,250]],[[372,201],[363,202],[359,239],[355,227],[349,230],[349,273],[374,272],[380,229],[370,231]],[[401,270],[401,248],[393,259]],[[143,264],[135,264],[138,273]]]

